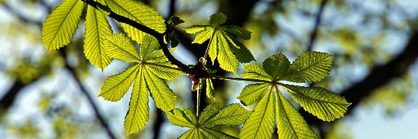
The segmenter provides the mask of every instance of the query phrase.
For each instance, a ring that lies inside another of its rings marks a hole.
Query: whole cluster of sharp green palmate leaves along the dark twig
[[[185,28],[187,33],[196,34],[193,43],[209,41],[206,54],[201,58],[203,60],[197,64],[200,66],[195,65],[208,74],[201,77],[199,72],[194,74],[185,70],[183,67],[187,66],[171,55],[174,49],[163,45],[165,36],[172,48],[177,46],[178,40],[172,28],[184,22],[180,18],[171,17],[164,21],[155,8],[133,0],[65,0],[52,10],[42,26],[42,40],[47,51],[70,43],[78,28],[84,3],[88,3],[84,34],[86,58],[101,70],[114,59],[132,65],[119,74],[109,76],[98,95],[108,101],[118,101],[133,84],[129,110],[125,116],[127,135],[143,129],[148,122],[148,96],[155,101],[157,108],[167,113],[172,124],[189,128],[180,138],[235,138],[214,127],[237,126],[243,122],[240,138],[271,138],[274,125],[277,125],[279,138],[318,138],[279,88],[286,90],[305,111],[324,121],[342,117],[350,105],[346,99],[325,88],[282,82],[314,83],[330,74],[332,54],[308,51],[293,63],[279,52],[268,57],[263,65],[245,64],[243,79],[229,78],[257,82],[246,85],[237,97],[245,106],[261,99],[254,111],[247,111],[240,104],[230,104],[225,108],[210,104],[201,115],[198,112],[199,116],[196,116],[191,109],[175,108],[176,95],[165,80],[189,74],[193,82],[206,83],[208,97],[215,97],[211,80],[216,78],[213,76],[215,71],[205,67],[204,59],[209,56],[212,64],[217,60],[222,69],[238,75],[239,63],[254,60],[251,52],[240,42],[249,40],[251,32],[239,26],[222,25],[226,22],[226,16],[222,13],[210,16],[208,25]],[[121,22],[124,33],[113,33],[107,16]],[[132,22],[139,27],[132,26]]]

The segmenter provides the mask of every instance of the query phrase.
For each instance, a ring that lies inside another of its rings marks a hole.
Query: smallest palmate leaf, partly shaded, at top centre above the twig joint
[[[194,25],[185,28],[187,33],[196,33],[193,43],[202,44],[206,40],[210,40],[208,45],[209,57],[214,64],[215,59],[218,60],[222,69],[237,73],[239,63],[249,63],[254,60],[251,52],[241,44],[234,35],[248,40],[251,32],[246,31],[238,26],[219,26],[226,22],[226,16],[217,13],[210,16],[210,25]]]

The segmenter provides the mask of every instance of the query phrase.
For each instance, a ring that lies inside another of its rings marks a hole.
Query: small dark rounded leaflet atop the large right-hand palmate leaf
[[[286,74],[291,61],[279,51],[279,53],[269,56],[263,62],[265,72],[272,75],[273,79],[277,79],[279,76]]]

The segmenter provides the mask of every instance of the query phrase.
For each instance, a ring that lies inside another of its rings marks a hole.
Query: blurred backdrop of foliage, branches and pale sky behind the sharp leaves
[[[311,85],[328,88],[353,103],[345,117],[322,122],[300,110],[322,138],[418,138],[418,1],[415,0],[144,0],[178,26],[174,56],[195,64],[206,44],[191,44],[183,27],[208,24],[222,12],[226,24],[251,31],[244,41],[257,61],[282,51],[294,60],[302,51],[334,54],[332,73]],[[102,72],[83,54],[84,16],[72,42],[46,51],[42,22],[60,0],[0,0],[0,138],[177,138],[186,128],[170,124],[150,101],[147,126],[125,136],[130,92],[118,102],[96,97],[107,76],[129,65],[118,60]],[[118,23],[109,19],[115,33]],[[222,72],[221,75],[234,76]],[[242,72],[240,66],[239,72]],[[221,106],[247,83],[213,80]],[[177,107],[194,108],[188,76],[169,85]],[[152,99],[150,99],[152,100]],[[297,108],[300,106],[295,105]],[[251,106],[247,107],[251,110]],[[238,127],[219,128],[238,136]],[[277,133],[276,135],[277,136]],[[277,138],[277,137],[274,137]]]

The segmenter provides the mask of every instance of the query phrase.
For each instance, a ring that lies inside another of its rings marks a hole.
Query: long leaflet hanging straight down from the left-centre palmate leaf
[[[139,68],[139,67],[138,67]],[[149,119],[148,90],[144,79],[144,71],[139,70],[129,102],[129,110],[125,116],[126,134],[135,133],[146,125]]]

